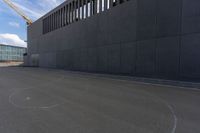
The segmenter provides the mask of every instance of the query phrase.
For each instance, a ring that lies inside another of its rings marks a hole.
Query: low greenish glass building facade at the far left
[[[26,48],[0,44],[0,62],[23,61]]]

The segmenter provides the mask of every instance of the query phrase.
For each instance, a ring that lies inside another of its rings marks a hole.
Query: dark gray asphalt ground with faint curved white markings
[[[0,67],[0,133],[200,133],[200,91]]]

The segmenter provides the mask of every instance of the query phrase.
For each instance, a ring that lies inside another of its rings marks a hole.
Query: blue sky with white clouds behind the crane
[[[65,0],[10,0],[33,21]],[[0,0],[0,44],[26,47],[25,21]]]

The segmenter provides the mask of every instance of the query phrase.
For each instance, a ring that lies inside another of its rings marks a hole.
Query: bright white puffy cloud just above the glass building
[[[16,34],[0,34],[0,44],[27,47],[27,43]]]

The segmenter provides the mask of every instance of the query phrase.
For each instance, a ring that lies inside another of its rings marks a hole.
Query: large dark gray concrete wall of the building
[[[38,54],[41,67],[200,79],[199,0],[130,0],[42,34],[46,16],[28,27],[30,65]]]

